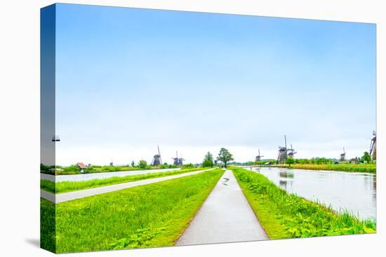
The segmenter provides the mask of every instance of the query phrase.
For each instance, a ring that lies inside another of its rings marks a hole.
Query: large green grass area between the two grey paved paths
[[[56,252],[172,246],[222,174],[213,169],[56,204]]]

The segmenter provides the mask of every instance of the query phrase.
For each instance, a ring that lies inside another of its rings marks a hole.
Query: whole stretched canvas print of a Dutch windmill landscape
[[[376,232],[375,24],[41,9],[41,247]]]

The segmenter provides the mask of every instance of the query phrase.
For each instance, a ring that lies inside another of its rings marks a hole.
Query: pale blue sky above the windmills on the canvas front
[[[57,4],[55,26],[58,165],[370,146],[373,24]]]

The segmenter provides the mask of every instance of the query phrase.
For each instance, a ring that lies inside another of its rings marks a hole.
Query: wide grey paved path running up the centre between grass
[[[227,170],[175,245],[215,244],[269,239]]]

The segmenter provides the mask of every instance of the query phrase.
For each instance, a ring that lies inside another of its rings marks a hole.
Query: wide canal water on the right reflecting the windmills
[[[246,169],[248,169],[246,167]],[[361,219],[376,218],[376,176],[356,172],[252,168],[288,193],[346,210]]]

